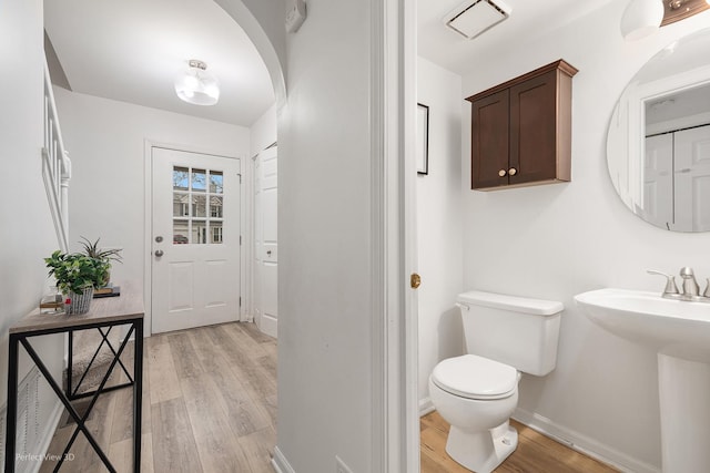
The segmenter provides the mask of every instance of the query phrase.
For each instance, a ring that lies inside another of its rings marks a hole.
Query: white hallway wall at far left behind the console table
[[[8,328],[37,308],[41,296],[48,292],[50,281],[42,258],[59,248],[42,181],[40,152],[44,61],[41,0],[0,2],[0,58],[6,71],[0,74],[0,163],[4,175],[0,186],[0,405],[3,405]],[[62,337],[42,337],[32,345],[61,380]],[[22,348],[20,356],[22,379],[30,363]],[[44,426],[51,423],[57,402],[45,383],[41,385],[39,421]],[[4,424],[1,428],[0,436],[4,439]]]

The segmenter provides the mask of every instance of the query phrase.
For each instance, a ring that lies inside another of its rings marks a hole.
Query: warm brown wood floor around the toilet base
[[[618,472],[516,421],[518,448],[496,473],[609,473]],[[420,419],[422,473],[470,473],[446,453],[448,423],[434,411]]]

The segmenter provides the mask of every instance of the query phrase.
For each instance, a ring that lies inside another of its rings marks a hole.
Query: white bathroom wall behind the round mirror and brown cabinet
[[[663,281],[647,268],[676,273],[689,265],[710,276],[708,234],[663,232],[633,216],[611,186],[605,153],[607,124],[626,83],[671,40],[710,25],[710,12],[625,43],[623,7],[611,2],[506,55],[479,58],[486,66],[464,78],[465,97],[559,58],[580,70],[572,85],[569,184],[468,191],[470,117],[464,115],[464,286],[565,304],[557,370],[524,377],[519,408],[643,471],[660,467],[656,354],[594,326],[572,296],[600,287],[660,292]]]

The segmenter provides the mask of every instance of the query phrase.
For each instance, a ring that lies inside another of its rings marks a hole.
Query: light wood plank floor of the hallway
[[[275,339],[239,322],[153,336],[145,339],[143,374],[141,472],[273,473]],[[131,472],[131,390],[102,394],[89,419],[116,471]],[[74,424],[62,424],[50,454],[60,454],[73,433]],[[71,452],[60,472],[108,471],[83,434]],[[45,461],[40,472],[53,469]]]

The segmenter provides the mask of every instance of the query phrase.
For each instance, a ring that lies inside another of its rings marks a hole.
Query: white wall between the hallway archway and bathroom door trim
[[[367,2],[310,0],[287,39],[277,449],[300,473],[372,471],[369,22]]]

